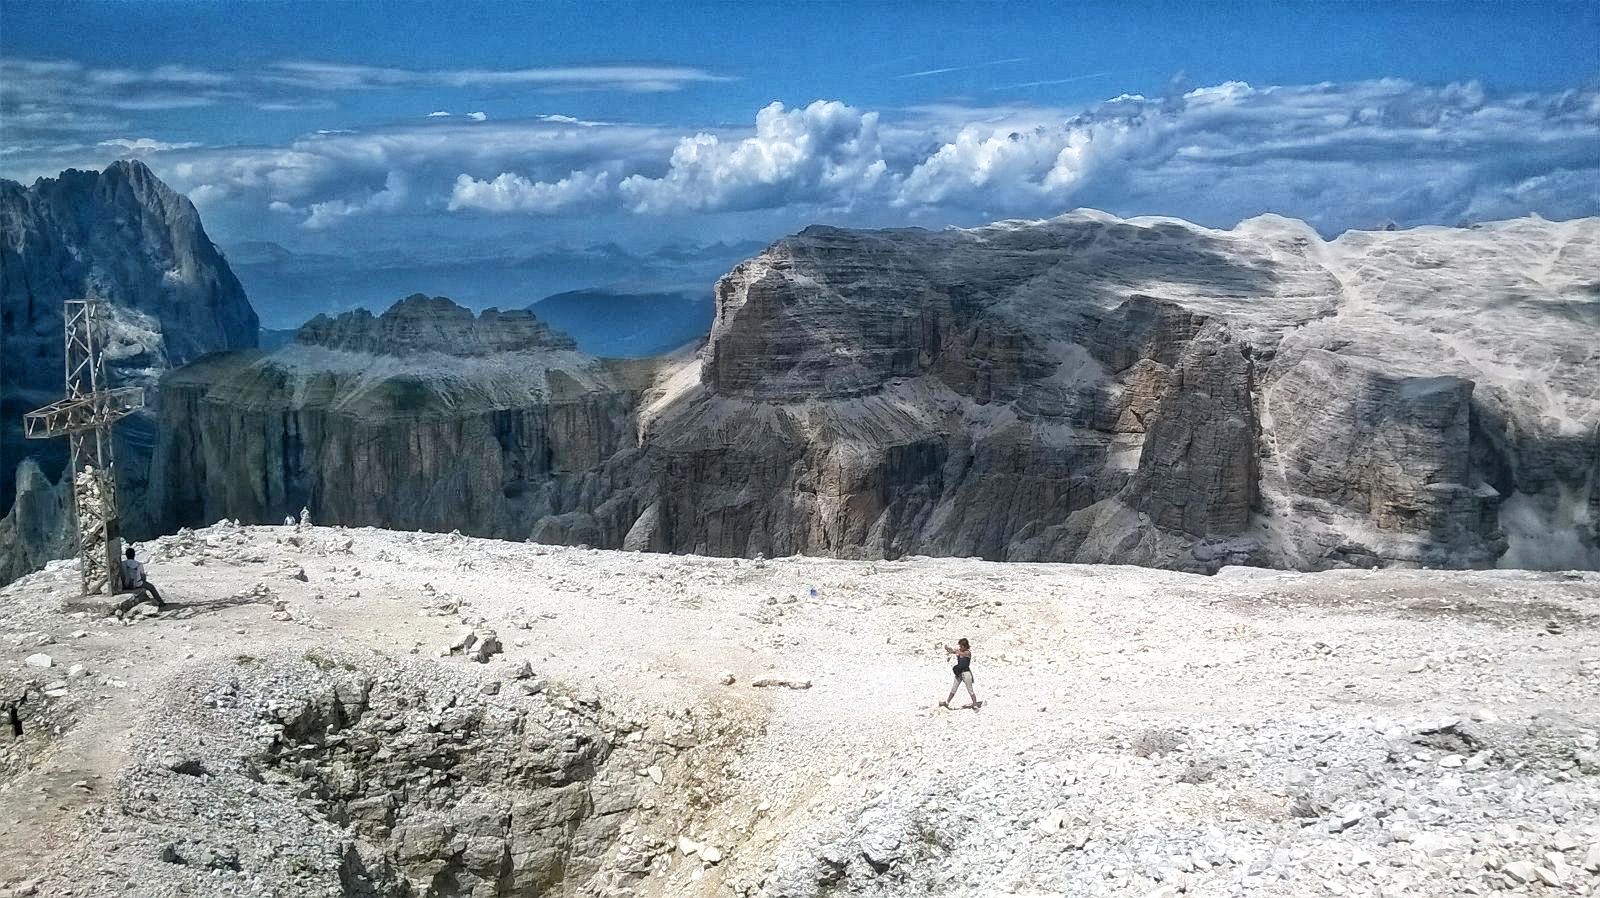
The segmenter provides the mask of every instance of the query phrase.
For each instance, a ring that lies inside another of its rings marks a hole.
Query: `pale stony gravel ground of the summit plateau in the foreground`
[[[478,736],[504,719],[603,746],[568,895],[1600,895],[1595,573],[1202,578],[229,523],[139,549],[171,602],[154,616],[74,603],[70,563],[0,591],[0,895],[514,893],[474,879],[470,847],[418,848],[424,810],[528,799],[443,781],[478,759],[395,786],[411,804],[378,829],[346,810],[358,784],[334,788],[352,764],[403,770],[453,708]],[[938,708],[962,635],[981,711]],[[296,724],[352,677],[386,711],[328,741],[378,760],[330,760]]]

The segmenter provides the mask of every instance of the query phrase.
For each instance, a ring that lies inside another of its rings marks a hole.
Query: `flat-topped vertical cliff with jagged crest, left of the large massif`
[[[376,347],[392,347],[381,354]],[[166,527],[282,520],[523,539],[579,475],[634,440],[627,370],[530,312],[411,296],[314,319],[277,352],[205,359],[162,383],[152,474]]]

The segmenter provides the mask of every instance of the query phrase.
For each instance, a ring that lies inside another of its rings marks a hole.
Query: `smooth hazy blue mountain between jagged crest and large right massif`
[[[618,293],[570,290],[528,306],[542,322],[566,331],[594,355],[661,355],[710,331],[710,291]]]

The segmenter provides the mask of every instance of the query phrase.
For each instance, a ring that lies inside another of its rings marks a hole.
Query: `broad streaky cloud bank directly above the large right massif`
[[[1477,83],[1402,80],[1120,96],[1054,123],[962,126],[904,173],[893,203],[1006,214],[1101,205],[1214,224],[1282,211],[1325,231],[1594,214],[1597,96],[1491,98]]]

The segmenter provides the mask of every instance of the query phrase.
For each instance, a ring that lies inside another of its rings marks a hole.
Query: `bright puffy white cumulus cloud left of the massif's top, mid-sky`
[[[805,109],[773,102],[755,115],[755,136],[683,138],[661,178],[632,174],[618,186],[638,213],[750,210],[786,203],[848,208],[874,190],[886,163],[877,112],[837,101]]]

